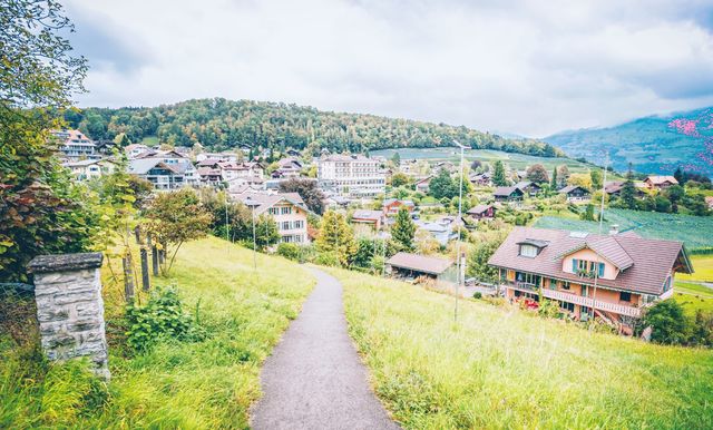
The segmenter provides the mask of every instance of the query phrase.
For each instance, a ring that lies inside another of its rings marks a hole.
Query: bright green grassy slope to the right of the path
[[[407,429],[713,428],[713,352],[590,333],[339,270],[349,330]]]

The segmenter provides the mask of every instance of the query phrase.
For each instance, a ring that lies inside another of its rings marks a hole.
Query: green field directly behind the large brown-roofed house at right
[[[633,231],[642,237],[681,241],[685,243],[688,251],[713,247],[713,216],[606,209],[604,218],[604,234],[616,224],[619,226],[619,232]],[[535,222],[535,226],[597,233],[599,224],[590,221],[543,216]]]

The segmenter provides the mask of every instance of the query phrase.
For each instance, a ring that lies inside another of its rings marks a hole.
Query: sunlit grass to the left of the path
[[[81,393],[65,408],[69,412],[48,413],[52,390],[18,379],[17,369],[9,371],[11,352],[0,348],[10,356],[7,368],[0,365],[0,403],[9,405],[0,407],[0,428],[247,428],[247,410],[261,394],[260,367],[314,283],[295,263],[258,254],[254,272],[252,258],[250,251],[217,238],[184,245],[172,276],[156,284],[178,289],[185,309],[194,317],[199,312],[206,338],[165,341],[143,354],[123,344],[125,329],[116,316],[121,287],[105,282],[113,379],[98,405]]]

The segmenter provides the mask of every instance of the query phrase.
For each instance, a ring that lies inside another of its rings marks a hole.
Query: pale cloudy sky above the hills
[[[713,1],[66,0],[87,106],[225,97],[541,137],[713,106]]]

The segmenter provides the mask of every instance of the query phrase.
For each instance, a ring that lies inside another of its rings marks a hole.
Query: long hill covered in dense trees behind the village
[[[87,108],[66,115],[70,127],[94,139],[125,133],[130,141],[158,137],[160,143],[222,150],[248,144],[262,147],[329,148],[362,152],[394,147],[453,146],[560,156],[549,144],[506,139],[467,127],[394,119],[374,115],[321,111],[312,107],[223,98],[187,100],[152,108]]]

